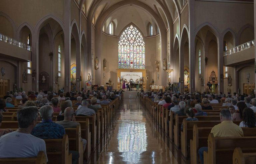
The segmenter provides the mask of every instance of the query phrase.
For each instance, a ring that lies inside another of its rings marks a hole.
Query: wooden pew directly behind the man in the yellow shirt
[[[232,155],[236,147],[243,152],[256,151],[256,136],[250,137],[208,137],[208,152],[204,151],[205,164],[232,164]]]

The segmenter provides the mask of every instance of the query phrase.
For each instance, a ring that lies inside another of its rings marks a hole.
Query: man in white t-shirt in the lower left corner
[[[44,151],[48,162],[45,141],[30,134],[37,124],[37,117],[37,107],[18,110],[19,129],[0,137],[0,158],[37,157],[39,151]]]

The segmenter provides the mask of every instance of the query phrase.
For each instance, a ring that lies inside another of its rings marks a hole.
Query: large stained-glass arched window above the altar
[[[137,28],[127,27],[118,43],[118,68],[145,69],[145,43]]]

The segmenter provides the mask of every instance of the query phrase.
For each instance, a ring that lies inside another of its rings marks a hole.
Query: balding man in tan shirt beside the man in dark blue
[[[80,125],[78,122],[75,122],[75,112],[72,107],[68,107],[64,111],[64,120],[56,121],[56,124],[63,126],[64,128],[76,128],[77,125]],[[87,141],[86,139],[82,139],[83,141],[83,150],[85,151]]]

